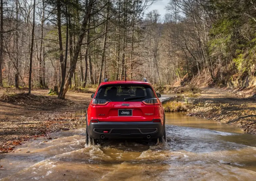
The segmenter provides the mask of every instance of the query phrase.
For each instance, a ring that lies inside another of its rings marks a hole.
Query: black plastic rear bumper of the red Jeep
[[[101,139],[104,135],[105,139],[119,139],[119,138],[136,138],[150,139],[160,138],[163,136],[163,129],[161,122],[98,122],[90,123],[88,126],[88,134],[94,139]],[[103,131],[108,131],[104,133]]]

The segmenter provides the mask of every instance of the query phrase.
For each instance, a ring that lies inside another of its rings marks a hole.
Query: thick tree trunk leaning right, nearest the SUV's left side
[[[88,2],[88,0],[86,0],[86,5],[87,5],[87,2]],[[65,81],[63,92],[61,94],[59,94],[59,96],[58,96],[59,99],[65,99],[66,92],[68,91],[68,86],[71,83],[72,75],[73,75],[74,70],[76,68],[76,63],[77,63],[77,60],[78,60],[79,52],[81,50],[81,45],[83,43],[84,35],[86,33],[86,30],[87,30],[86,27],[87,27],[87,22],[88,22],[88,16],[91,13],[93,2],[94,2],[94,0],[89,0],[89,4],[87,5],[87,12],[84,15],[84,20],[83,20],[83,23],[81,25],[81,29],[79,31],[80,34],[79,34],[78,41],[77,41],[77,44],[76,44],[74,57],[72,58],[71,67],[69,69],[69,74],[68,74],[68,77]]]

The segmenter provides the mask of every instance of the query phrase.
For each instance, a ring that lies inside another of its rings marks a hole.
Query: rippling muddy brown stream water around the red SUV
[[[256,180],[256,136],[183,113],[166,114],[166,134],[158,146],[122,140],[85,147],[84,127],[52,133],[53,140],[4,155],[0,179]]]

